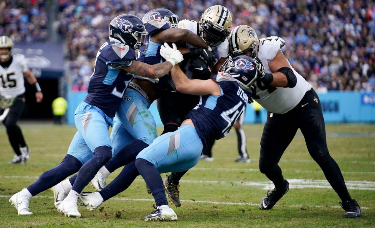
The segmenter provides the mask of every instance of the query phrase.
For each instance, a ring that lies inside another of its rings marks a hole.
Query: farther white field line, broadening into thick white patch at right
[[[34,178],[39,177],[27,177],[27,176],[0,176],[0,178]],[[113,180],[107,178],[107,180]],[[143,179],[136,179],[135,181],[142,181]],[[274,185],[272,181],[211,181],[211,180],[180,180],[181,183],[210,183],[210,184],[239,184],[249,186],[260,186],[264,190],[272,190]],[[331,189],[331,185],[327,180],[306,180],[306,179],[288,179],[291,189],[302,189],[302,188],[325,188]],[[375,190],[375,182],[372,181],[345,181],[348,189],[356,190]]]

